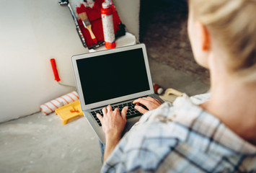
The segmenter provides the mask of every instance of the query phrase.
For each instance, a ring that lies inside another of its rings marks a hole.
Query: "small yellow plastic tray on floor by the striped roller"
[[[55,110],[55,114],[61,117],[63,125],[66,125],[66,123],[68,123],[68,121],[71,120],[73,117],[84,115],[81,111],[79,99],[75,102],[71,102],[69,105],[59,107]]]

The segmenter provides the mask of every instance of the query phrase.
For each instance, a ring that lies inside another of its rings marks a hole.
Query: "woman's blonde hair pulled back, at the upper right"
[[[256,81],[256,0],[190,0],[190,6],[228,53],[228,69]]]

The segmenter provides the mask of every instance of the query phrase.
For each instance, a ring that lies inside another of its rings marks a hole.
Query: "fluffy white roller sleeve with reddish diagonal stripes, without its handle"
[[[43,105],[40,105],[40,110],[43,112],[44,115],[48,115],[58,107],[62,107],[63,105],[68,105],[71,102],[76,101],[79,99],[77,92],[71,92],[69,94],[63,95],[58,97],[57,99],[53,99],[50,102],[46,102]]]

